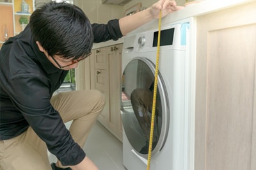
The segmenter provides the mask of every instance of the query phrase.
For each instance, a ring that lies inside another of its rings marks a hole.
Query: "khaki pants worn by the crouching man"
[[[102,111],[105,98],[96,90],[59,93],[51,99],[63,122],[72,121],[70,133],[83,148],[88,134]],[[0,141],[0,169],[50,170],[47,147],[31,127],[23,134]]]

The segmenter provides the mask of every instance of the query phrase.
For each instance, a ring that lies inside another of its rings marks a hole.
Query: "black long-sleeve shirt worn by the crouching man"
[[[92,24],[94,42],[122,37],[118,20]],[[51,153],[65,165],[85,157],[51,103],[68,71],[60,70],[38,49],[29,27],[9,38],[0,50],[0,140],[11,139],[31,126]]]

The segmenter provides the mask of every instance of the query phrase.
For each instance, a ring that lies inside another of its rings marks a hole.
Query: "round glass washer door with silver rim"
[[[121,112],[124,131],[134,150],[144,157],[148,154],[150,140],[154,73],[154,64],[146,58],[132,59],[123,73]],[[170,112],[166,95],[166,88],[159,73],[152,156],[163,148],[168,134]]]

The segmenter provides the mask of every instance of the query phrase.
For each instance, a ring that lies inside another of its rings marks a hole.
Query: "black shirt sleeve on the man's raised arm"
[[[120,30],[119,20],[109,20],[108,24],[92,24],[93,42],[106,42],[108,40],[118,40],[123,35]]]

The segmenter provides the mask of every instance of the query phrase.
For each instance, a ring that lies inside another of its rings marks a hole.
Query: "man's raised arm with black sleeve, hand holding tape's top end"
[[[184,8],[176,6],[175,1],[160,0],[146,10],[123,17],[119,20],[109,20],[108,24],[92,24],[94,40],[93,42],[106,42],[108,40],[118,40],[134,29],[146,24],[150,20],[158,19],[159,11],[162,10],[162,17],[168,13]]]

